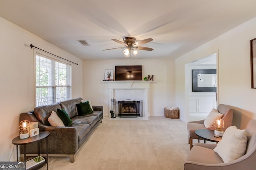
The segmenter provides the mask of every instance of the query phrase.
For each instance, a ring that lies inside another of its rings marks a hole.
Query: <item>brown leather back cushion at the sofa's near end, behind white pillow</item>
[[[34,115],[44,125],[50,126],[48,117],[50,117],[52,111],[57,112],[57,109],[61,109],[59,104],[43,105],[34,108]]]

